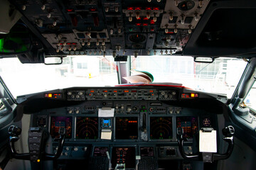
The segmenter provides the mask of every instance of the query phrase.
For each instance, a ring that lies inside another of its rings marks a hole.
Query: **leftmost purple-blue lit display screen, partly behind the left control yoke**
[[[65,128],[65,138],[72,137],[72,117],[51,116],[50,117],[50,135],[54,138],[59,137],[59,129]]]

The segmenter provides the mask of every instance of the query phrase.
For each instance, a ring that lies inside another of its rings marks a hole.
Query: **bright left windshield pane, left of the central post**
[[[21,64],[18,58],[0,62],[0,75],[14,97],[73,86],[114,86],[117,68],[111,56],[68,56],[63,64]]]

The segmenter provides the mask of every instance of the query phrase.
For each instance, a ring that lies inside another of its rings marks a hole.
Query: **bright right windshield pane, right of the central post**
[[[223,57],[213,63],[193,62],[193,57],[183,56],[132,57],[132,70],[150,72],[154,83],[183,84],[197,91],[226,94],[228,98],[232,97],[246,64],[243,60]]]

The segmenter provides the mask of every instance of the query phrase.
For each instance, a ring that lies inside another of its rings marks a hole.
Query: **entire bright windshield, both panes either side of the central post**
[[[193,57],[131,57],[131,73],[150,72],[154,83],[178,83],[230,98],[240,80],[246,62],[218,58],[211,64],[193,62]],[[118,84],[117,66],[112,56],[68,56],[63,64],[21,64],[18,58],[0,62],[0,74],[16,96],[73,86],[114,86]]]

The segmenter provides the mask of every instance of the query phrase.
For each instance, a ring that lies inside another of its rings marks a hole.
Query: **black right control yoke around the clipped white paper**
[[[213,128],[202,128],[201,129],[203,132],[211,132]],[[203,161],[203,162],[213,162],[213,161],[218,161],[222,159],[228,159],[233,152],[234,148],[234,141],[233,141],[233,135],[235,133],[235,129],[233,126],[229,125],[222,130],[223,132],[223,140],[225,142],[228,142],[228,149],[224,154],[218,154],[218,153],[213,153],[213,152],[199,152],[197,154],[186,154],[183,149],[183,129],[182,128],[177,128],[177,137],[178,137],[178,149],[181,152],[181,156],[184,159],[188,160],[193,160],[193,161]]]

